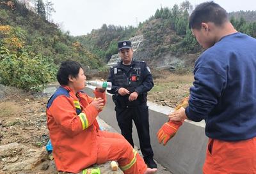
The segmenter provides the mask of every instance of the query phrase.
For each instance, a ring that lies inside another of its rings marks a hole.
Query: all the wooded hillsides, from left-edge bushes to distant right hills
[[[33,2],[30,6],[25,2]],[[42,89],[55,80],[57,65],[72,59],[84,68],[99,69],[117,54],[117,41],[143,34],[134,57],[154,68],[191,69],[202,48],[188,29],[189,1],[157,9],[138,26],[103,24],[84,36],[70,36],[51,22],[51,1],[0,1],[0,83]],[[230,13],[237,31],[256,37],[255,11]]]

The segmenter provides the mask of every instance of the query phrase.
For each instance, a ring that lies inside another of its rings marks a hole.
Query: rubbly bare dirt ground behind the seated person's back
[[[17,92],[22,93],[17,94]],[[28,149],[43,148],[49,140],[45,116],[46,103],[47,96],[35,97],[24,91],[13,90],[12,95],[0,103],[0,145],[16,142],[25,145]],[[12,164],[9,159],[17,156],[18,160],[26,160],[22,158],[22,156],[26,156],[26,153],[20,150],[11,156],[1,156],[0,173],[10,173],[1,171],[4,166]],[[16,173],[56,173],[52,161],[41,162],[33,170]],[[45,165],[49,169],[41,170]]]

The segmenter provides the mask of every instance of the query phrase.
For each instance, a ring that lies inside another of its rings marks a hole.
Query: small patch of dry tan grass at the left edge
[[[13,101],[6,101],[0,103],[0,117],[10,117],[15,113],[19,112],[19,106]]]

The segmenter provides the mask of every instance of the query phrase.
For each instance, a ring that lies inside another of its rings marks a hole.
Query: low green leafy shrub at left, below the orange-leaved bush
[[[57,68],[52,59],[42,55],[31,57],[27,52],[19,55],[3,52],[1,57],[3,59],[0,62],[0,83],[4,85],[27,91],[40,91],[46,83],[55,80]]]

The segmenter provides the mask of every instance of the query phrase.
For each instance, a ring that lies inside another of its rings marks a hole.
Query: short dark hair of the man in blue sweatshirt
[[[200,29],[202,22],[213,22],[221,26],[227,22],[227,11],[219,4],[211,2],[201,3],[189,17],[189,29]]]

